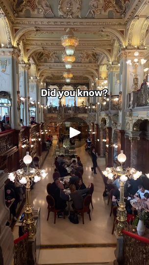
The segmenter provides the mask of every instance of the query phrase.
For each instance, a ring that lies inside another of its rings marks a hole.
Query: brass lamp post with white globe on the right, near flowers
[[[123,164],[126,160],[126,156],[123,154],[123,151],[121,151],[121,154],[118,155],[118,161],[121,163],[121,166],[114,167],[107,167],[105,171],[102,171],[103,175],[110,180],[113,180],[114,178],[120,179],[120,201],[118,203],[118,211],[117,211],[117,232],[118,235],[122,235],[122,230],[126,229],[128,227],[128,224],[126,222],[127,220],[127,213],[125,210],[125,202],[124,202],[124,183],[127,181],[127,179],[134,179],[137,180],[141,175],[141,171],[137,171],[135,168],[127,167],[123,168]]]

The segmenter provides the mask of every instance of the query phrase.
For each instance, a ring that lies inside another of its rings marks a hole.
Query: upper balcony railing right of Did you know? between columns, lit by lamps
[[[101,111],[121,110],[122,109],[122,93],[119,95],[110,95],[106,97],[101,104]]]

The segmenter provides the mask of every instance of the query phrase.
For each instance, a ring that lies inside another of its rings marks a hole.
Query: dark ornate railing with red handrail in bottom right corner
[[[123,230],[124,265],[149,265],[149,239]]]

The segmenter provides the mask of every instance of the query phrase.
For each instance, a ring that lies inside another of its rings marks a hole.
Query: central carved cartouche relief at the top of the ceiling
[[[81,2],[81,0],[59,0],[59,16],[63,18],[81,18]]]

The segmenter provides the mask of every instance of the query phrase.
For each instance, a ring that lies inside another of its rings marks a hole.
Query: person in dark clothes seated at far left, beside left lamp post
[[[12,213],[13,215],[13,220],[16,221],[17,218],[16,218],[16,203],[15,203],[15,200],[16,200],[16,194],[14,192],[14,190],[7,186],[6,187],[6,190],[5,190],[5,202],[6,202],[6,206],[9,207],[10,206],[10,213]]]

